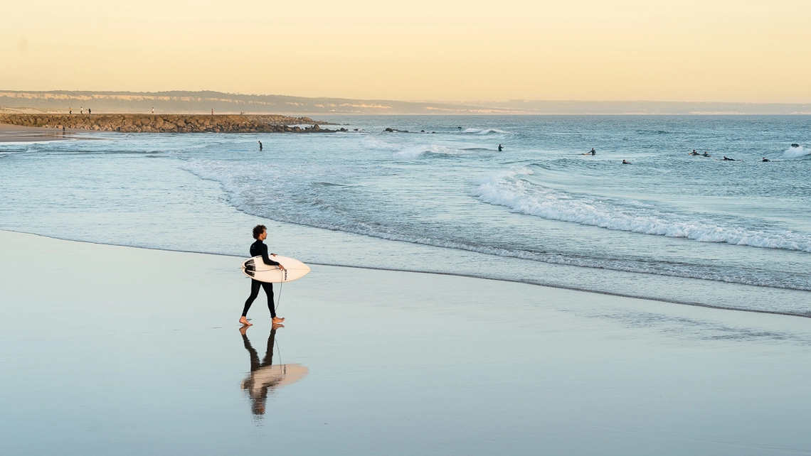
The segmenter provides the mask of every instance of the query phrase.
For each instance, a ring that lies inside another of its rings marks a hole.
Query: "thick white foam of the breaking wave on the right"
[[[522,178],[530,173],[531,170],[527,168],[498,173],[484,182],[480,181],[473,194],[483,202],[543,219],[618,231],[685,237],[701,242],[725,242],[811,253],[811,233],[736,228],[709,219],[667,213],[640,202],[566,194]]]

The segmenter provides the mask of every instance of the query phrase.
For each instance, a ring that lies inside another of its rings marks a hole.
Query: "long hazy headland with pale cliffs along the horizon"
[[[308,98],[285,95],[245,95],[223,92],[88,92],[2,91],[0,113],[67,113],[79,109],[93,113],[186,113],[204,114],[811,114],[811,104],[729,103],[693,101],[397,101]]]

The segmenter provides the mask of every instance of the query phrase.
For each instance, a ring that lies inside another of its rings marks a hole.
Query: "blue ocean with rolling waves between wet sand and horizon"
[[[811,117],[322,118],[2,143],[0,229],[811,316]]]

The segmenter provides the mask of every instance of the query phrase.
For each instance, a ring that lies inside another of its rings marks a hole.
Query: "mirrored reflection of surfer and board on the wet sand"
[[[273,343],[276,339],[276,330],[281,325],[273,325],[268,336],[268,347],[264,359],[260,363],[259,355],[248,340],[247,328],[243,326],[239,332],[242,334],[242,343],[251,355],[251,373],[242,381],[242,390],[246,390],[251,397],[251,411],[254,415],[264,415],[264,404],[268,400],[268,390],[274,391],[285,385],[301,380],[309,369],[300,364],[273,364]]]

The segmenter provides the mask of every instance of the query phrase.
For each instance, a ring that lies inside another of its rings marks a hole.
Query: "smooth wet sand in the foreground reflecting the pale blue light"
[[[0,251],[2,454],[811,452],[809,318],[313,266],[243,338],[240,258]]]

